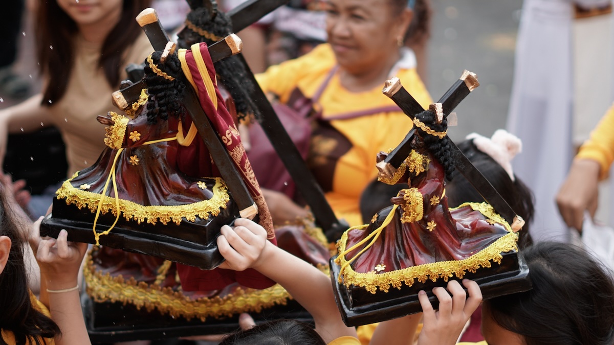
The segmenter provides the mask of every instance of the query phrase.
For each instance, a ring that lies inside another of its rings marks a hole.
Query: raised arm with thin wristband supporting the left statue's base
[[[40,224],[38,220],[34,227]],[[41,295],[47,295],[51,318],[62,331],[55,344],[90,344],[79,289],[75,289],[87,244],[69,243],[67,238],[66,230],[60,231],[57,240],[39,237],[36,260],[41,266]]]

